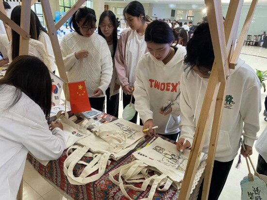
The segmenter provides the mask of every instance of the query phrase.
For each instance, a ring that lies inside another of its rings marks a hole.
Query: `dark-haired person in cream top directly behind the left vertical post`
[[[17,5],[11,12],[11,20],[14,21],[18,26],[20,26],[20,13],[21,6]],[[7,47],[7,55],[9,62],[11,63],[19,55],[19,34],[12,30],[12,41],[9,42]],[[31,19],[30,19],[30,35],[29,39],[29,55],[38,57],[51,71],[51,63],[47,56],[44,44],[37,40],[36,32],[36,20],[34,12],[31,10]]]

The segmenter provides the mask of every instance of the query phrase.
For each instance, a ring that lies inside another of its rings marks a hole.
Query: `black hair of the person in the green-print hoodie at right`
[[[185,68],[192,70],[193,67],[204,75],[208,75],[214,62],[214,51],[208,23],[202,23],[195,30],[193,37],[187,43],[187,54],[184,57]]]

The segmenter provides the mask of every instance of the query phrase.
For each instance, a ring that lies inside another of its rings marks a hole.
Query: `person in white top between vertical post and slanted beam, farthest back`
[[[38,40],[39,42],[43,43],[45,46],[46,54],[48,55],[48,58],[50,60],[51,64],[51,71],[55,73],[55,70],[57,68],[56,63],[55,63],[55,56],[54,56],[54,51],[52,48],[52,44],[50,41],[50,37],[48,35],[48,32],[45,30],[45,28],[42,26],[39,18],[37,15],[31,10],[31,13],[33,13],[35,17],[35,22],[36,22],[36,38],[33,38],[35,40]]]

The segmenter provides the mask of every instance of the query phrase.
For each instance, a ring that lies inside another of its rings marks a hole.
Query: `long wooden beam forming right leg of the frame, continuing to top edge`
[[[234,34],[236,35],[238,26],[237,20],[240,18],[241,9],[243,5],[243,0],[231,0],[229,4],[229,8],[226,15],[226,20],[224,22],[225,28],[225,38],[226,38],[226,53],[229,54],[231,49]],[[211,19],[214,20],[214,19]],[[214,42],[213,42],[214,43]],[[228,64],[228,59],[227,59]],[[217,141],[218,135],[220,130],[221,118],[223,115],[223,106],[224,106],[224,98],[225,98],[225,87],[227,82],[222,82],[219,87],[219,92],[217,95],[216,105],[215,105],[215,112],[213,117],[213,124],[211,130],[211,138],[209,144],[209,151],[208,151],[208,158],[207,158],[207,165],[205,168],[205,178],[203,183],[202,189],[202,200],[208,200],[209,190],[210,190],[210,182],[212,177],[214,159],[217,149]]]

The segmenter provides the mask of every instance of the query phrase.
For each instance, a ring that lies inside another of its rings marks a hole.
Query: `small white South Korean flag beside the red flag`
[[[50,72],[52,81],[52,106],[59,105],[60,95],[63,89],[64,80]]]

